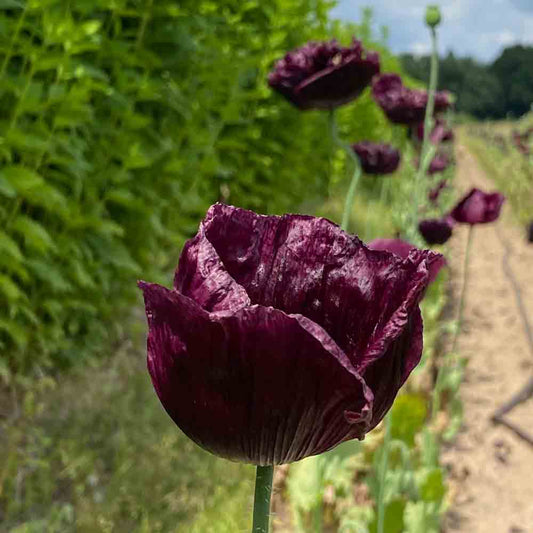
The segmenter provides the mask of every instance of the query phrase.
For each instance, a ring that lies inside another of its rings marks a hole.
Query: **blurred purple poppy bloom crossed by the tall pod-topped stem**
[[[395,124],[415,126],[424,120],[428,95],[426,91],[408,89],[397,74],[382,74],[372,84],[372,95],[387,118]],[[435,113],[451,105],[445,92],[435,95]]]

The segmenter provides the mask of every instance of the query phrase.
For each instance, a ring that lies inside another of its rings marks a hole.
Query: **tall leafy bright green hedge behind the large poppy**
[[[279,213],[326,195],[327,117],[266,76],[311,38],[371,40],[368,14],[332,24],[331,5],[0,2],[0,372],[102,352],[135,280],[167,281],[211,203]],[[341,131],[390,136],[368,94]]]

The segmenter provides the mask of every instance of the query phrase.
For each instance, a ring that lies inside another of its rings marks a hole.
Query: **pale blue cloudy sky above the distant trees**
[[[389,28],[395,53],[426,53],[429,34],[424,27],[425,8],[431,0],[339,0],[332,14],[359,20],[363,7],[374,11],[378,26]],[[510,44],[533,45],[533,0],[441,0],[443,22],[440,51],[471,55],[492,61]]]

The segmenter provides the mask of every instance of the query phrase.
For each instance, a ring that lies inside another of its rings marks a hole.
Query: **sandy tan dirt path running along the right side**
[[[494,190],[477,160],[458,143],[457,180],[460,193],[473,186]],[[461,387],[463,427],[444,450],[449,468],[451,509],[448,533],[533,533],[533,447],[490,417],[508,401],[533,372],[533,355],[518,313],[515,294],[502,259],[510,248],[510,265],[521,286],[533,325],[533,244],[511,216],[496,224],[477,226],[473,236],[463,333],[459,351],[467,357]],[[459,227],[451,244],[453,293],[459,295],[467,228]],[[533,399],[516,407],[509,420],[533,434]]]

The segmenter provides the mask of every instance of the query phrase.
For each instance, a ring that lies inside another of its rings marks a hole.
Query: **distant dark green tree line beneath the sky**
[[[427,82],[429,57],[404,54],[404,69]],[[452,52],[441,59],[439,89],[452,91],[458,112],[479,119],[519,117],[533,104],[533,47],[511,46],[489,64]]]

